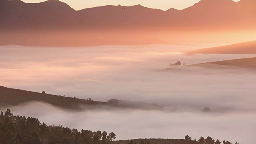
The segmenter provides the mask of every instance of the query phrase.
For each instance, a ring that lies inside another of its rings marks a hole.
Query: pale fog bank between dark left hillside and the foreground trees
[[[2,108],[1,108],[2,110]],[[4,110],[4,109],[3,109]],[[134,138],[175,138],[190,135],[252,144],[256,128],[255,112],[203,113],[155,110],[64,111],[43,103],[11,107],[13,114],[33,116],[47,125],[78,130],[115,132],[117,140]]]

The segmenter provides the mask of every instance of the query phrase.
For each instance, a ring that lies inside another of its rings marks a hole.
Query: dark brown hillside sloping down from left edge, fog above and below
[[[148,104],[143,102],[132,102],[124,100],[109,100],[108,102],[100,102],[93,100],[84,100],[79,98],[71,98],[64,96],[56,96],[52,94],[43,94],[39,92],[30,92],[26,90],[18,90],[0,86],[0,107],[1,106],[16,106],[26,102],[46,102],[53,106],[64,109],[82,110],[84,108],[132,108],[142,110],[159,110],[162,106],[156,104]],[[88,107],[95,106],[95,107]]]

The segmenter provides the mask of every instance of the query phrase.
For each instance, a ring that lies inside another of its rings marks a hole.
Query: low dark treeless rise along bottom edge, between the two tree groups
[[[111,144],[127,144],[130,141],[145,141],[145,142],[150,142],[151,144],[199,144],[199,142],[190,140],[186,141],[184,139],[177,140],[177,139],[160,139],[160,138],[151,138],[151,139],[134,139],[134,140],[118,140],[115,142],[112,142]]]

